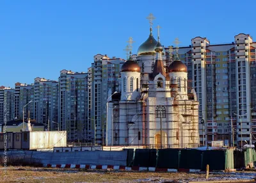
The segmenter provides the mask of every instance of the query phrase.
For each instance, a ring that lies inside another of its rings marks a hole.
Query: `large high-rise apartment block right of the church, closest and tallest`
[[[211,45],[207,38],[196,37],[189,47],[179,48],[198,95],[200,120],[205,121],[200,124],[201,143],[232,144],[232,128],[235,145],[256,141],[255,47],[252,37],[241,33],[230,44]]]

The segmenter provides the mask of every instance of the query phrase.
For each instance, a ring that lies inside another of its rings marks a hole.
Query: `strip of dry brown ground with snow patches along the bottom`
[[[252,180],[255,172],[210,173],[209,180]],[[0,167],[0,182],[191,182],[205,181],[205,173],[158,173],[114,170],[77,170],[9,166]]]

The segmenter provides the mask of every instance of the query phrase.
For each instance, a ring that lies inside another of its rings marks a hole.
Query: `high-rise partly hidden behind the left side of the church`
[[[92,67],[88,68],[88,124],[93,129],[93,143],[106,141],[106,102],[109,93],[119,92],[122,58],[107,55],[94,56]],[[95,139],[95,140],[94,140]]]

